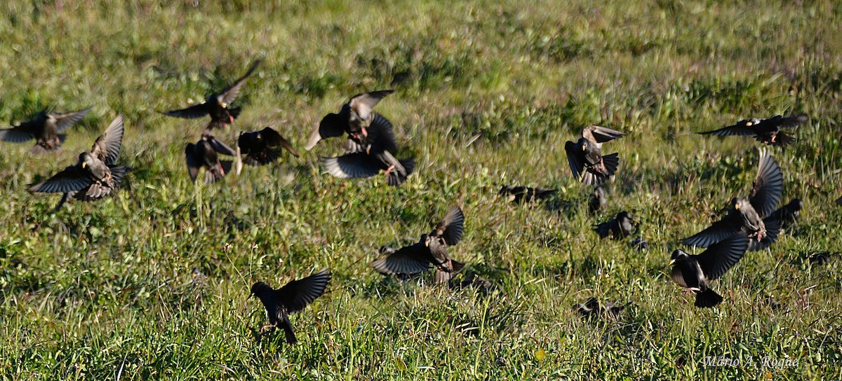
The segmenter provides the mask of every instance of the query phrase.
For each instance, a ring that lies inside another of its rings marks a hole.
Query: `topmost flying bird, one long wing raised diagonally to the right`
[[[246,75],[237,79],[231,86],[226,87],[220,93],[210,94],[205,99],[205,103],[196,104],[195,106],[180,110],[167,111],[163,114],[186,119],[201,118],[210,114],[210,124],[208,124],[207,130],[213,130],[216,127],[226,127],[228,124],[234,123],[234,119],[240,114],[241,108],[231,107],[231,103],[237,99],[242,85],[246,83],[246,79],[252,75],[259,65],[260,60],[254,61],[252,66],[248,68]]]

